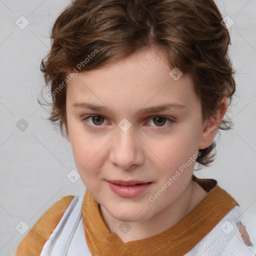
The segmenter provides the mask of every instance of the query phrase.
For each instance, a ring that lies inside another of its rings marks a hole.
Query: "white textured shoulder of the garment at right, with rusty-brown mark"
[[[217,225],[185,256],[255,256],[256,214],[232,208]]]

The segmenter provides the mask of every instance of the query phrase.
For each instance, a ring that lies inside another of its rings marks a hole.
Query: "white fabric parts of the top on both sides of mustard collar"
[[[74,196],[58,225],[45,242],[40,256],[92,256],[87,246],[82,222],[83,195]],[[242,239],[241,225],[246,228],[250,246]],[[255,256],[256,214],[239,206],[230,210],[218,224],[184,256]],[[98,256],[97,254],[93,256]],[[99,255],[110,256],[110,255]],[[118,255],[116,255],[118,256]],[[161,255],[165,256],[165,255]]]

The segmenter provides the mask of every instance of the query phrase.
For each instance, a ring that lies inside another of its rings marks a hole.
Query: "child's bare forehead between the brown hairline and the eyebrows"
[[[170,75],[166,55],[143,49],[99,69],[82,71],[67,83],[66,102],[86,101],[137,111],[138,106],[159,103],[192,104],[196,100],[192,77]]]

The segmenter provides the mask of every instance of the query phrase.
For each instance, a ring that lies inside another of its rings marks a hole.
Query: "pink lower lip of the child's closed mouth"
[[[135,197],[142,193],[152,182],[135,186],[122,186],[107,181],[110,189],[121,197]]]

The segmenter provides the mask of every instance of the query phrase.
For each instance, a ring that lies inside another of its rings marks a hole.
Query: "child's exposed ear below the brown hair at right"
[[[209,119],[205,120],[202,127],[198,149],[204,149],[211,144],[224,117],[227,106],[227,98],[223,97],[220,102],[219,109],[213,115],[211,115]]]

